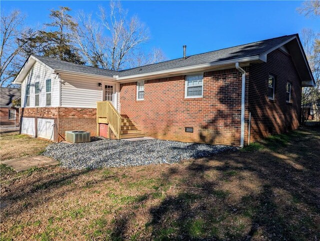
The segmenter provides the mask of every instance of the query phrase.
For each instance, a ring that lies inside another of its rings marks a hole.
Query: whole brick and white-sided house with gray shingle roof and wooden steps
[[[243,146],[297,128],[301,87],[314,79],[296,34],[123,71],[31,55],[13,83],[21,133],[31,136],[107,129],[116,138]]]

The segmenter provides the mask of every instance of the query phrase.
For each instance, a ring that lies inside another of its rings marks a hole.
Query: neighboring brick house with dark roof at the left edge
[[[0,125],[10,126],[19,124],[19,106],[13,106],[12,101],[20,99],[18,88],[0,88]]]

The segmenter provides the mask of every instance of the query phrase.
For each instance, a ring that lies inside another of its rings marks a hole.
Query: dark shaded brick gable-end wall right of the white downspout
[[[274,100],[269,100],[267,96],[269,74],[276,78]],[[292,83],[292,103],[286,103],[285,99],[287,81]],[[251,64],[248,91],[251,141],[298,127],[301,82],[289,55],[275,50],[268,54],[267,63]]]

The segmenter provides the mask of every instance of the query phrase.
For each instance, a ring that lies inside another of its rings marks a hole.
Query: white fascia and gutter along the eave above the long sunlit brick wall
[[[118,78],[116,78],[116,81],[125,82],[126,80],[130,81],[130,79],[163,75],[163,74],[171,74],[171,73],[174,74],[175,72],[183,72],[183,71],[190,71],[190,70],[195,71],[197,69],[203,69],[203,68],[214,67],[214,66],[219,66],[219,65],[226,65],[226,64],[235,64],[236,62],[246,62],[246,61],[254,61],[254,60],[261,60],[261,58],[260,58],[260,56],[251,56],[251,57],[240,58],[240,59],[232,59],[232,60],[219,61],[219,62],[214,62],[214,63],[193,65],[193,66],[188,66],[188,67],[183,67],[183,68],[176,68],[176,69],[162,70],[162,71],[156,71],[156,72],[150,72],[150,73],[144,73],[144,74],[138,74],[138,75],[118,77]],[[263,59],[262,59],[262,61],[263,61]]]

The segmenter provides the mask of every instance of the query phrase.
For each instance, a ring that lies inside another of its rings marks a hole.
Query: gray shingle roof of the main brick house
[[[42,61],[44,64],[48,65],[52,69],[65,70],[78,72],[83,74],[93,74],[105,77],[113,77],[113,75],[118,75],[119,77],[145,74],[156,71],[170,70],[176,68],[189,67],[194,65],[201,65],[207,63],[214,63],[232,59],[246,58],[252,56],[258,56],[265,51],[268,51],[277,45],[287,41],[288,39],[296,35],[285,35],[278,38],[262,40],[258,42],[253,42],[249,44],[239,45],[235,47],[230,47],[226,49],[216,50],[212,52],[207,52],[203,54],[187,56],[186,59],[179,58],[175,60],[169,60],[160,62],[157,64],[145,65],[137,68],[132,68],[122,71],[104,70],[94,67],[88,67],[84,65],[73,64],[65,61],[59,61],[50,59],[47,57],[35,56],[37,59]]]

